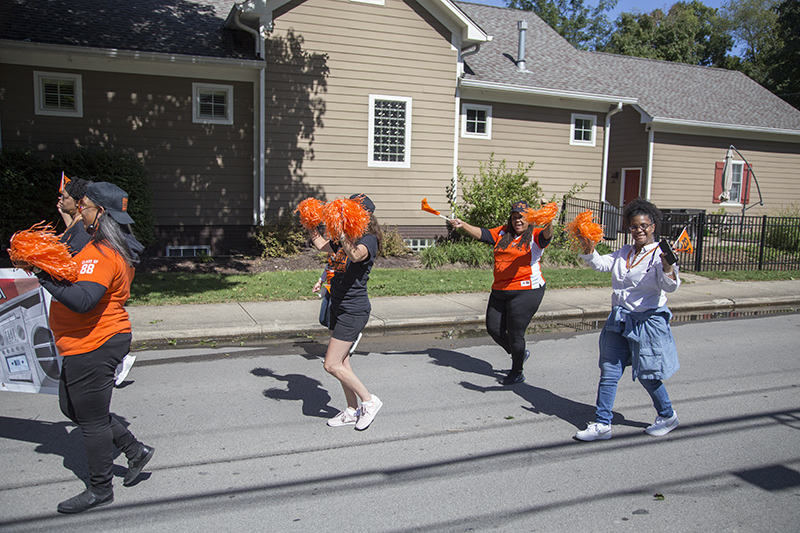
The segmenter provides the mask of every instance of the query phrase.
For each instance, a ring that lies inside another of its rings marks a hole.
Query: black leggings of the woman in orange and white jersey
[[[511,354],[511,370],[522,372],[525,360],[525,330],[539,309],[544,285],[524,291],[492,290],[486,308],[486,331],[494,342]]]

